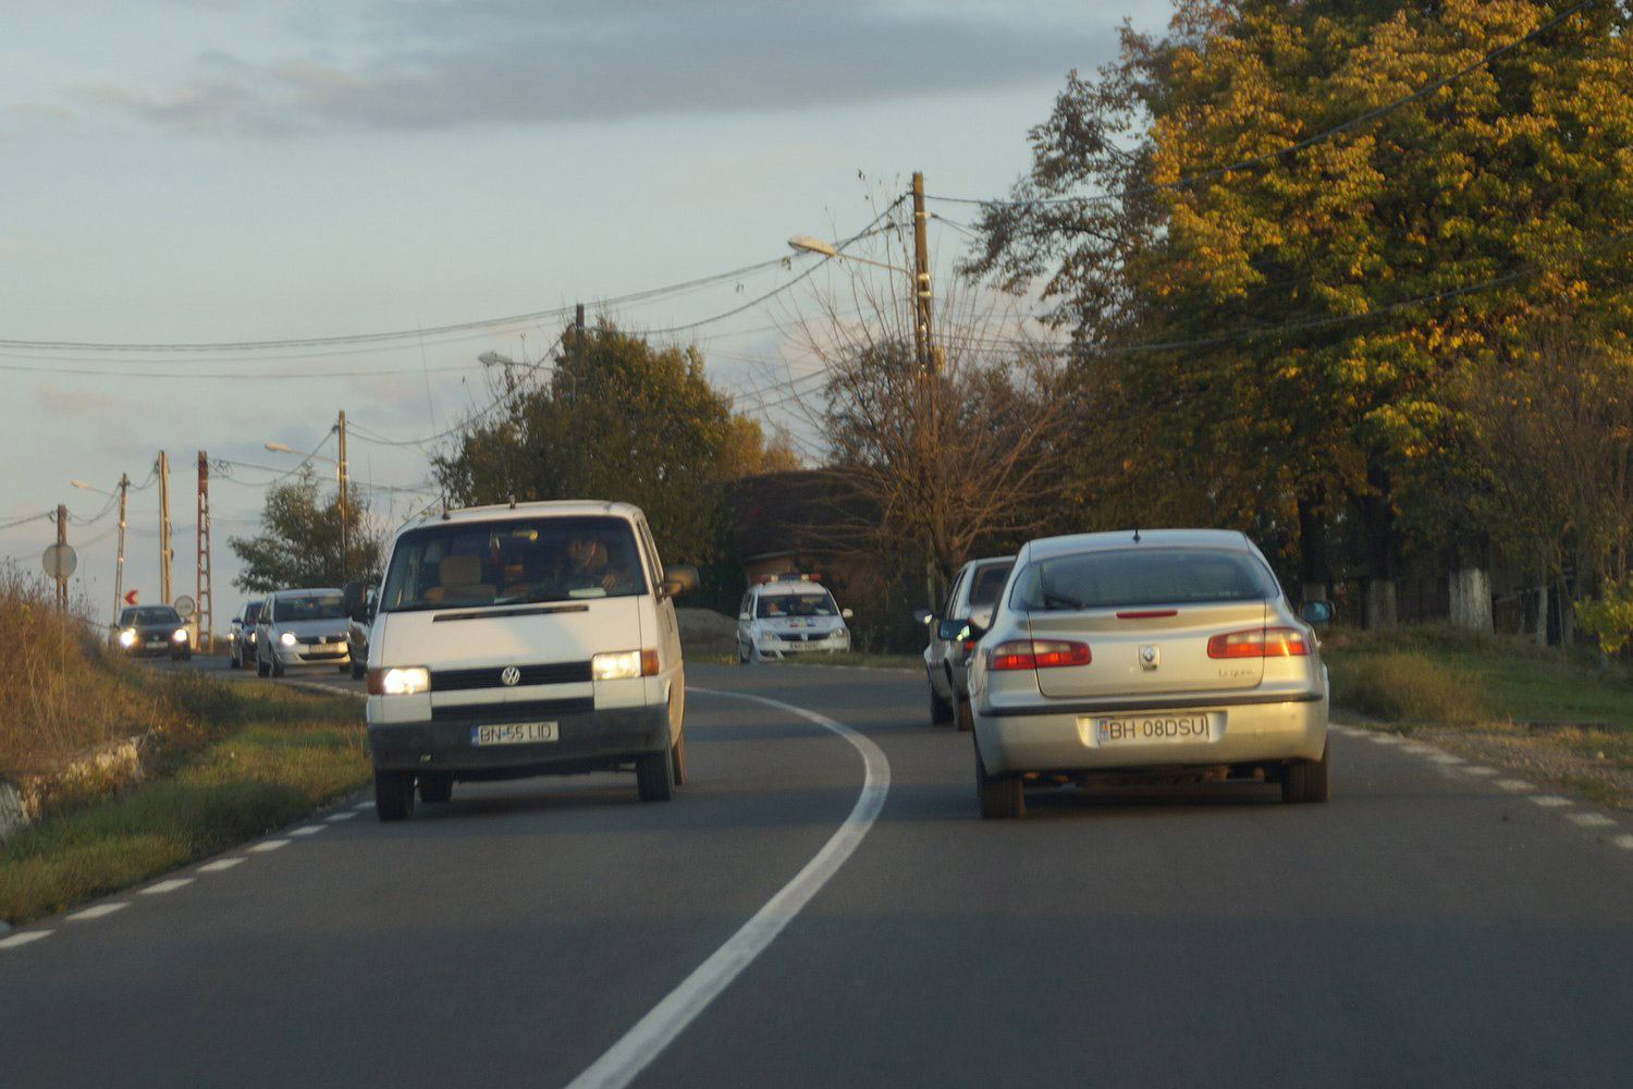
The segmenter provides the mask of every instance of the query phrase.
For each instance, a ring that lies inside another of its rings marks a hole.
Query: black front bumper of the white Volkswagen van
[[[475,745],[477,727],[554,722],[554,741]],[[369,723],[376,771],[443,772],[454,779],[521,779],[607,771],[670,748],[663,704],[547,715],[444,717],[431,722]]]

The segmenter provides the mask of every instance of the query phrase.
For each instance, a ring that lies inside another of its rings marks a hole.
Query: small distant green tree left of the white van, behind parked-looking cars
[[[261,509],[261,532],[227,539],[227,547],[243,563],[234,586],[261,593],[377,580],[384,534],[369,524],[363,491],[348,485],[346,496],[343,536],[340,495],[325,498],[310,465],[271,485]]]

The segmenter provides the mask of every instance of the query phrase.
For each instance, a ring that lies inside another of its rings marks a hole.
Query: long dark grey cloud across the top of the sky
[[[572,124],[883,106],[1057,82],[1115,47],[1110,20],[980,8],[632,0],[552,10],[488,0],[384,5],[374,18],[382,21],[372,33],[314,42],[305,56],[247,62],[212,52],[170,88],[103,83],[78,88],[78,98],[163,127],[256,136]]]

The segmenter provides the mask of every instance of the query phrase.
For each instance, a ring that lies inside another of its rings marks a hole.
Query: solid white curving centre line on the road
[[[879,810],[885,805],[885,795],[890,793],[890,761],[885,759],[877,745],[851,727],[833,718],[825,718],[803,707],[766,699],[764,696],[694,687],[687,687],[687,692],[746,699],[790,712],[800,718],[815,722],[825,730],[833,730],[862,754],[865,771],[862,792],[857,795],[851,815],[830,836],[823,849],[805,864],[805,869],[795,873],[794,880],[784,885],[776,896],[768,900],[766,906],[754,913],[754,918],[745,922],[743,929],[733,934],[725,945],[717,949],[709,960],[701,963],[661,1002],[653,1006],[650,1014],[635,1022],[635,1027],[625,1032],[606,1055],[568,1082],[568,1089],[590,1089],[591,1086],[596,1089],[621,1089],[635,1081],[640,1071],[658,1058],[663,1048],[670,1047],[686,1030],[686,1025],[732,985],[743,968],[753,963],[759,953],[766,952],[766,947],[776,940],[782,927],[792,922],[794,916],[800,913],[810,898],[844,865],[851,852],[862,842],[867,829],[874,826]]]

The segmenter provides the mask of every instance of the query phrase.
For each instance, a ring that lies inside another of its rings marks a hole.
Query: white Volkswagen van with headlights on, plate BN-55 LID
[[[658,562],[629,503],[482,506],[400,529],[366,674],[379,818],[408,816],[416,785],[447,802],[456,780],[609,769],[668,800],[686,780],[671,598],[696,586],[696,568]]]

